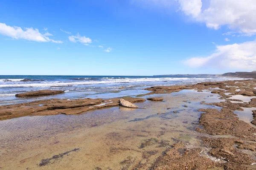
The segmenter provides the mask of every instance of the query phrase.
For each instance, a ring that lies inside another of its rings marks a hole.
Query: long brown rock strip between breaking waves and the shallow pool
[[[236,83],[240,82],[240,83]],[[35,100],[33,102],[24,102],[14,105],[0,105],[0,120],[12,119],[22,116],[47,116],[56,114],[82,114],[88,111],[96,109],[108,108],[118,106],[119,99],[127,99],[128,102],[144,102],[145,99],[139,97],[148,96],[152,94],[169,94],[173,92],[179,92],[185,89],[197,90],[202,92],[203,90],[212,91],[212,93],[221,95],[222,99],[227,99],[228,95],[225,93],[231,93],[233,95],[244,96],[256,96],[256,85],[253,88],[244,87],[243,85],[237,86],[242,82],[254,82],[254,80],[234,80],[224,82],[201,82],[194,85],[173,85],[173,86],[154,86],[151,88],[145,88],[143,90],[151,91],[147,94],[136,95],[136,97],[119,97],[110,99],[45,99]],[[256,81],[255,81],[256,82]],[[230,86],[230,87],[226,87]],[[233,87],[232,87],[233,86]],[[240,91],[236,91],[239,87]],[[216,89],[217,88],[217,89]],[[225,93],[224,91],[225,90]],[[255,94],[253,93],[255,92]],[[34,93],[34,92],[33,92]],[[230,95],[229,95],[230,96]],[[113,100],[113,101],[112,101]],[[230,99],[232,101],[232,99]],[[254,102],[253,102],[254,103]],[[256,104],[256,102],[255,102]]]

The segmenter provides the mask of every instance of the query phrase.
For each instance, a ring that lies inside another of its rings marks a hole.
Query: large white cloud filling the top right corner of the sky
[[[210,0],[204,10],[201,0],[179,0],[179,3],[186,15],[206,23],[209,28],[218,29],[227,25],[244,36],[256,34],[255,0]]]

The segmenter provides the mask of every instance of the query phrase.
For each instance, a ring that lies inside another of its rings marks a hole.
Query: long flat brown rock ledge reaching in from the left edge
[[[47,99],[15,105],[0,106],[0,120],[21,116],[46,116],[56,114],[80,114],[96,109],[119,105],[119,99]],[[144,102],[142,98],[123,97],[128,102]]]

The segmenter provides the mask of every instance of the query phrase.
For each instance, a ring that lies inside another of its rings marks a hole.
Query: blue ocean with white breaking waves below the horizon
[[[0,76],[0,105],[39,99],[113,98],[146,94],[143,88],[155,85],[186,85],[224,81],[234,77],[161,76]],[[38,90],[63,90],[64,94],[36,98],[17,98],[15,94]]]

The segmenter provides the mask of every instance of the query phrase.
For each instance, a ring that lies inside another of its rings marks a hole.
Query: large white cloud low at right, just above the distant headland
[[[192,68],[215,67],[243,69],[251,71],[256,69],[256,41],[241,44],[217,45],[216,51],[207,57],[193,57],[184,62]]]

